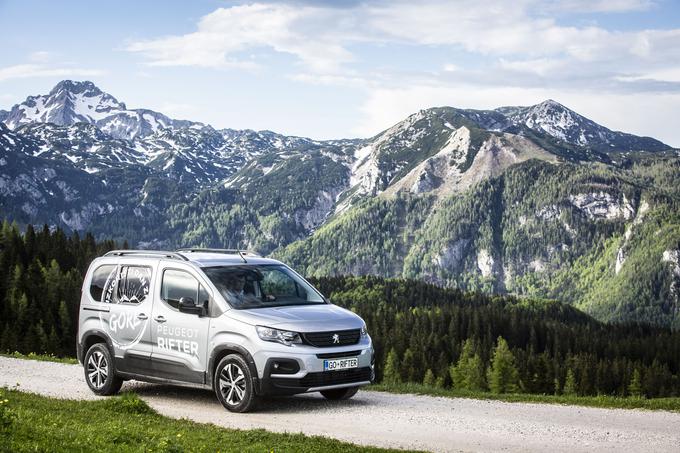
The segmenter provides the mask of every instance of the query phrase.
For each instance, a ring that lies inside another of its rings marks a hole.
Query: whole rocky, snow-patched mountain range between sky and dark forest
[[[121,118],[125,118],[122,121]],[[273,253],[680,327],[680,158],[555,101],[367,139],[215,129],[60,82],[0,123],[0,212],[140,247]]]

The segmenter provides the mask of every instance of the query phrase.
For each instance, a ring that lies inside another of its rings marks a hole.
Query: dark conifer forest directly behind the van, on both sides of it
[[[75,355],[89,262],[127,244],[48,227],[0,229],[0,351]],[[607,324],[553,300],[490,296],[417,280],[316,277],[366,320],[386,383],[497,393],[680,396],[680,332]]]

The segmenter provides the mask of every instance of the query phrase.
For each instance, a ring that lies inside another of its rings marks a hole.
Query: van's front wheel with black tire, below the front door
[[[229,354],[217,364],[213,388],[217,399],[230,412],[248,412],[257,403],[253,375],[238,354]]]

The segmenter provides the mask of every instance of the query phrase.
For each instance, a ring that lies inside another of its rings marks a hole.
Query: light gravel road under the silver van
[[[94,400],[78,365],[0,357],[0,386]],[[430,451],[680,451],[680,414],[503,403],[360,391],[328,402],[318,394],[264,400],[232,414],[210,391],[126,382],[151,407],[228,428],[322,435],[357,444]]]

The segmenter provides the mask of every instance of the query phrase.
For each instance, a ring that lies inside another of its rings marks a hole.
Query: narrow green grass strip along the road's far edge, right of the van
[[[507,401],[510,403],[542,403],[572,406],[602,407],[608,409],[648,409],[680,412],[680,398],[622,398],[616,396],[570,396],[570,395],[533,395],[512,393],[497,395],[490,392],[469,392],[441,389],[422,384],[374,384],[370,390],[390,393],[413,393],[416,395],[443,396],[446,398],[472,398],[480,400]]]

